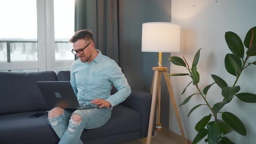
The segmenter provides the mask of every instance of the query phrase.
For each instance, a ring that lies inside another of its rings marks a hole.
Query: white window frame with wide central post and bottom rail
[[[55,71],[56,68],[71,67],[75,58],[74,60],[55,60],[54,1],[36,0],[36,9],[38,62],[0,63],[0,70],[39,69],[39,71]]]

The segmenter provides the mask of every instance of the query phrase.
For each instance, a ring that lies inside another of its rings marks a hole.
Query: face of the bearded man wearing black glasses
[[[88,45],[91,41],[84,40],[84,39],[79,39],[75,43],[73,43],[73,48],[75,51],[80,50],[79,52],[82,53],[82,49]],[[92,47],[92,43],[89,44],[84,50],[83,54],[77,53],[77,57],[80,59],[81,62],[87,62],[88,60],[91,59],[92,57],[92,50],[90,49]]]

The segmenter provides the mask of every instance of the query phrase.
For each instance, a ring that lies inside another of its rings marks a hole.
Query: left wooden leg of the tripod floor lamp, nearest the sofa
[[[154,71],[154,84],[153,84],[153,94],[152,94],[152,101],[151,101],[151,109],[150,109],[150,117],[149,117],[149,124],[148,124],[148,138],[147,144],[151,144],[152,138],[152,130],[153,130],[153,123],[154,123],[154,111],[156,105],[156,98],[157,98],[157,89],[158,89],[158,71]]]

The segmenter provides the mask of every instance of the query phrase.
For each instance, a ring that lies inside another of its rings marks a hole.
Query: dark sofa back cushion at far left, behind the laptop
[[[52,71],[0,72],[0,115],[48,109],[36,82],[56,80]]]

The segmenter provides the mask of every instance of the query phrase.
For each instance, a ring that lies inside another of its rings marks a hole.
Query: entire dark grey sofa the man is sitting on
[[[69,81],[70,72],[0,72],[0,144],[57,144],[59,138],[47,120],[48,108],[37,81]],[[116,89],[112,89],[115,93]],[[102,127],[82,132],[86,144],[115,144],[147,137],[151,95],[132,90],[112,110]],[[39,118],[29,118],[45,113]]]

